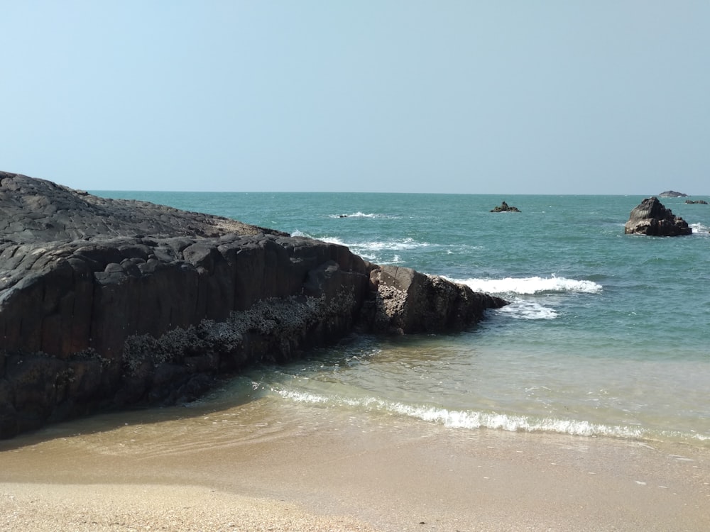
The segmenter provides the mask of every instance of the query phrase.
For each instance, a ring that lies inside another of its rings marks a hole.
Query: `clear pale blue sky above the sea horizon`
[[[710,194],[710,1],[2,1],[0,170]]]

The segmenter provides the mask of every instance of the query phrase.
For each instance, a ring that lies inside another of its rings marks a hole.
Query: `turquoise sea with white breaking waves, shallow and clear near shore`
[[[511,301],[464,333],[351,338],[254,368],[215,405],[710,446],[710,206],[662,199],[694,232],[654,238],[623,234],[644,196],[95,193],[342,243]],[[502,200],[522,212],[490,213]]]

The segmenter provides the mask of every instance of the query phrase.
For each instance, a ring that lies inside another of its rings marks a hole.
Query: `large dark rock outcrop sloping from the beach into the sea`
[[[504,304],[342,245],[0,172],[0,438],[189,401],[352,332],[461,330]]]

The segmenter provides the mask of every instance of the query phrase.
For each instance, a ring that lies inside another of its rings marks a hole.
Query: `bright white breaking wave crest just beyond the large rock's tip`
[[[475,292],[488,294],[541,294],[543,292],[583,292],[597,294],[601,284],[566,277],[505,277],[503,279],[453,279]]]

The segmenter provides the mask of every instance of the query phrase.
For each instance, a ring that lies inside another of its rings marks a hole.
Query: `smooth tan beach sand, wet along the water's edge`
[[[706,448],[258,402],[0,442],[0,530],[710,530]]]

